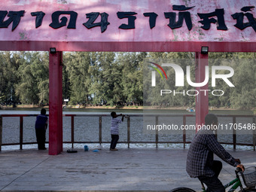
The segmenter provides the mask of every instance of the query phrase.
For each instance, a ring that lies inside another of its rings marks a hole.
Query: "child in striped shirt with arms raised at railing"
[[[117,117],[122,116],[122,119],[117,119]],[[117,142],[119,140],[119,126],[118,123],[121,123],[123,121],[124,114],[116,114],[116,112],[111,112],[111,145],[110,145],[110,151],[118,151],[117,148]]]

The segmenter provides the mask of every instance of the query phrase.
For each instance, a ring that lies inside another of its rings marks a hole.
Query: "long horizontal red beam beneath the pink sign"
[[[254,52],[256,42],[199,41],[1,41],[0,50],[49,51],[124,51],[124,52],[198,52],[208,46],[209,52]]]

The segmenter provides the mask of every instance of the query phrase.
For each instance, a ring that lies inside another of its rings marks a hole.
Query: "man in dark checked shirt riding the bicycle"
[[[187,153],[187,173],[191,178],[199,178],[206,184],[207,191],[224,192],[225,188],[218,175],[222,169],[222,163],[213,160],[216,154],[221,160],[236,166],[244,171],[244,166],[239,159],[233,158],[218,143],[213,128],[218,126],[218,117],[215,114],[207,114],[205,117],[205,129],[201,129],[194,137]]]

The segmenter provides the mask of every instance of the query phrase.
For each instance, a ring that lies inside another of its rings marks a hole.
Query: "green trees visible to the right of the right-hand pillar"
[[[235,87],[229,87],[222,80],[216,81],[216,87],[224,91],[223,96],[209,95],[209,105],[232,108],[255,107],[255,56],[254,53],[210,53],[209,66],[230,66],[234,75],[229,78]],[[224,74],[224,72],[217,72]],[[209,81],[211,85],[212,81]]]

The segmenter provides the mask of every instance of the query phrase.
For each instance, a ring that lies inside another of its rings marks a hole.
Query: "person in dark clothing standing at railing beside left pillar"
[[[46,110],[41,109],[41,114],[35,120],[35,136],[38,142],[38,150],[45,150],[45,133],[47,130],[48,117],[45,115]]]

